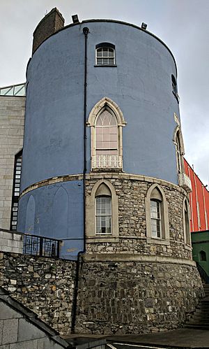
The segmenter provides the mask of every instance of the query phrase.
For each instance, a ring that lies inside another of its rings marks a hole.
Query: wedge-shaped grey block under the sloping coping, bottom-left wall
[[[32,325],[24,318],[19,320],[18,342],[29,341],[31,339],[40,339],[45,337],[45,333]]]

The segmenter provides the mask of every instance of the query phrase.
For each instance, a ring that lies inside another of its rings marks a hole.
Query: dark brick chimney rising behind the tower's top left
[[[42,18],[33,32],[32,55],[46,38],[64,27],[64,22],[63,16],[56,7],[52,8],[52,10]]]

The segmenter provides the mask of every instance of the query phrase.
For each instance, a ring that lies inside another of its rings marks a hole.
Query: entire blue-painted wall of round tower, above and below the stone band
[[[21,190],[40,180],[83,172],[83,27],[89,28],[87,114],[103,97],[115,101],[127,122],[123,127],[123,171],[178,184],[172,138],[173,113],[179,115],[179,109],[171,86],[171,74],[176,76],[171,52],[157,38],[131,25],[90,21],[65,27],[48,38],[29,62]],[[116,45],[116,67],[95,66],[95,45],[101,42]],[[91,170],[89,127],[87,169]],[[62,194],[52,199],[58,186],[31,192],[36,201],[34,234],[74,239],[77,251],[82,247],[75,240],[83,233],[82,187],[77,182],[63,183],[64,199]],[[20,199],[20,231],[26,219],[31,220],[26,218],[30,195]],[[63,253],[68,255],[66,250]]]

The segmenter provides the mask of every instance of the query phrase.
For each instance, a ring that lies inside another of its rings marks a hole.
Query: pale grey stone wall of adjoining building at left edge
[[[0,96],[0,227],[10,229],[15,154],[22,149],[25,97]]]

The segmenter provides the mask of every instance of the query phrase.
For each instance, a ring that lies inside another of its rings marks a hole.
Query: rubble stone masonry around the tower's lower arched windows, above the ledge
[[[104,178],[115,188],[118,195],[119,241],[116,243],[87,243],[87,253],[130,253],[137,255],[163,255],[192,259],[191,246],[185,245],[183,234],[183,199],[185,190],[177,185],[143,176],[117,174],[93,174],[87,177],[86,196],[91,194],[93,185]],[[164,190],[169,213],[169,245],[146,241],[145,198],[148,188],[157,183]]]

